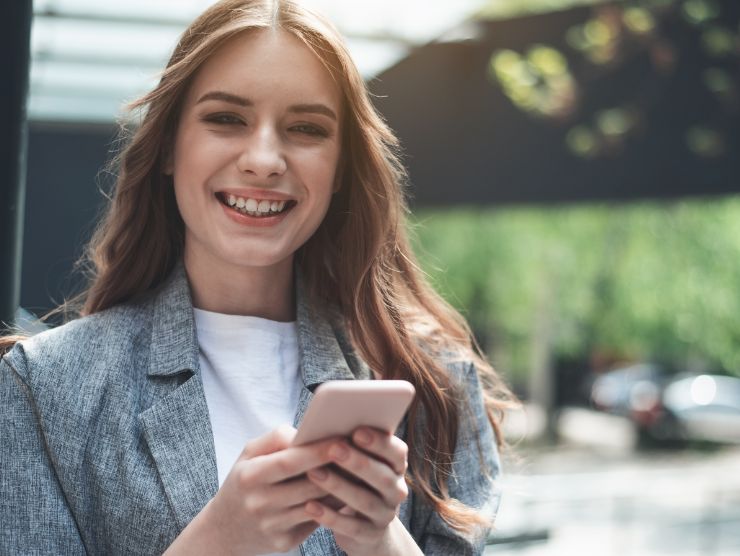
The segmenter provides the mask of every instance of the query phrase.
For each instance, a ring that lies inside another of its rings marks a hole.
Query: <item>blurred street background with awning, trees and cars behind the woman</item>
[[[424,269],[522,400],[487,553],[740,554],[740,3],[307,1]],[[21,305],[75,291],[126,101],[207,0],[36,0]]]

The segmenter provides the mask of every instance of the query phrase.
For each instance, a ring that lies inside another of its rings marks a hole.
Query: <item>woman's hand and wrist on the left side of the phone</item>
[[[279,427],[249,442],[223,485],[165,553],[285,552],[318,527],[305,504],[326,492],[306,472],[331,461],[332,441],[291,446],[296,430]]]

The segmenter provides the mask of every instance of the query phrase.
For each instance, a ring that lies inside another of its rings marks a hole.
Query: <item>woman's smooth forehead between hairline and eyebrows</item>
[[[213,90],[254,102],[290,99],[338,109],[339,87],[322,61],[300,39],[281,29],[246,31],[229,39],[200,67],[189,103]]]

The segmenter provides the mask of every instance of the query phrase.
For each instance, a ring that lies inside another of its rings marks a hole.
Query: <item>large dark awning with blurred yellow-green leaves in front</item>
[[[699,0],[472,22],[371,86],[418,205],[736,193],[739,21]]]

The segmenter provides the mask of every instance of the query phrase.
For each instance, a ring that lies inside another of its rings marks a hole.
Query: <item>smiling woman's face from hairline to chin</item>
[[[340,98],[321,61],[280,30],[237,36],[200,68],[168,167],[186,265],[290,268],[335,189]]]

